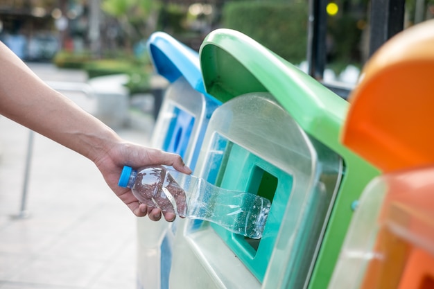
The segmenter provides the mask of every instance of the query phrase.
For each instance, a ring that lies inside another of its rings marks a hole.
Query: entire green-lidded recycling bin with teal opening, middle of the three
[[[169,288],[324,288],[351,204],[379,171],[342,146],[348,103],[234,30],[200,48],[211,116],[193,171],[272,201],[259,240],[180,220]]]

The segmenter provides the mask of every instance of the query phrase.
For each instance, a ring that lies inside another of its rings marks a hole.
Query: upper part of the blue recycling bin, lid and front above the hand
[[[157,73],[171,82],[152,146],[181,155],[194,170],[207,123],[221,102],[205,92],[196,51],[162,32],[151,35],[148,51]]]

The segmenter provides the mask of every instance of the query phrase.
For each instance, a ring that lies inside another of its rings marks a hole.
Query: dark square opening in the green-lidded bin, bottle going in
[[[256,193],[263,198],[267,198],[272,202],[273,198],[275,198],[277,181],[277,177],[268,173],[262,168],[259,168],[259,166],[255,166],[253,169],[252,179],[250,180],[248,191],[250,193]],[[250,246],[252,246],[255,252],[258,250],[261,239],[244,237],[244,240]]]

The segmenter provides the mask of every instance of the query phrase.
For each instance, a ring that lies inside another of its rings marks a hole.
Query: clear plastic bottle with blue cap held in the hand
[[[271,203],[252,193],[231,191],[164,166],[124,166],[119,186],[140,202],[177,216],[214,222],[236,234],[261,238]]]

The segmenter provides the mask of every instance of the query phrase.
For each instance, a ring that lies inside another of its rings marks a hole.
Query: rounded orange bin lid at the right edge
[[[349,101],[345,146],[385,172],[434,164],[434,20],[385,43]]]

